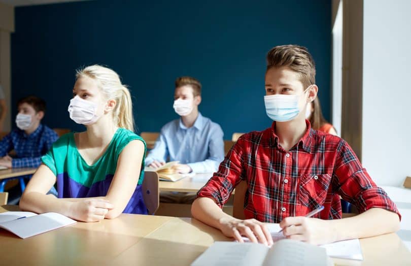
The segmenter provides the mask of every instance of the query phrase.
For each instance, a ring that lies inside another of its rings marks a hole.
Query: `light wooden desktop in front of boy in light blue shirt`
[[[191,192],[196,193],[201,187],[209,181],[213,173],[196,174],[193,177],[186,177],[176,182],[160,181],[160,191],[177,191],[177,192]]]

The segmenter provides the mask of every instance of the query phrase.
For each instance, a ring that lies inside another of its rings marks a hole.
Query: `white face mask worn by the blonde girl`
[[[70,118],[83,125],[89,125],[95,123],[99,115],[96,114],[97,104],[86,101],[80,98],[80,96],[75,96],[70,100],[70,105],[68,106],[68,113],[70,113]]]

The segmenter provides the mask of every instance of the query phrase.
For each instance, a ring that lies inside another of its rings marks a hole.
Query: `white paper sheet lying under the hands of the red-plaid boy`
[[[267,224],[268,230],[271,233],[274,242],[285,239],[278,223]],[[243,237],[245,242],[249,242],[248,238]],[[320,245],[325,248],[327,255],[334,258],[345,258],[363,260],[360,241],[358,239],[351,239],[345,241],[338,241],[331,244]]]

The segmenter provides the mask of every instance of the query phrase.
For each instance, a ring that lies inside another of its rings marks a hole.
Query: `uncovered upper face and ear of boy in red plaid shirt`
[[[317,86],[312,85],[304,88],[300,81],[300,77],[297,72],[290,70],[289,68],[271,68],[265,73],[265,95],[274,94],[288,94],[299,95],[298,109],[300,110],[299,116],[305,116],[305,107],[307,102],[312,102],[317,96]]]

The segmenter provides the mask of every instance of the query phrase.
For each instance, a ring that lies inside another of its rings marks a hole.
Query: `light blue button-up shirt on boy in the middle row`
[[[146,165],[154,160],[180,161],[194,173],[216,172],[224,159],[223,130],[220,125],[198,113],[194,125],[187,128],[181,118],[166,123],[154,148],[146,158]]]

